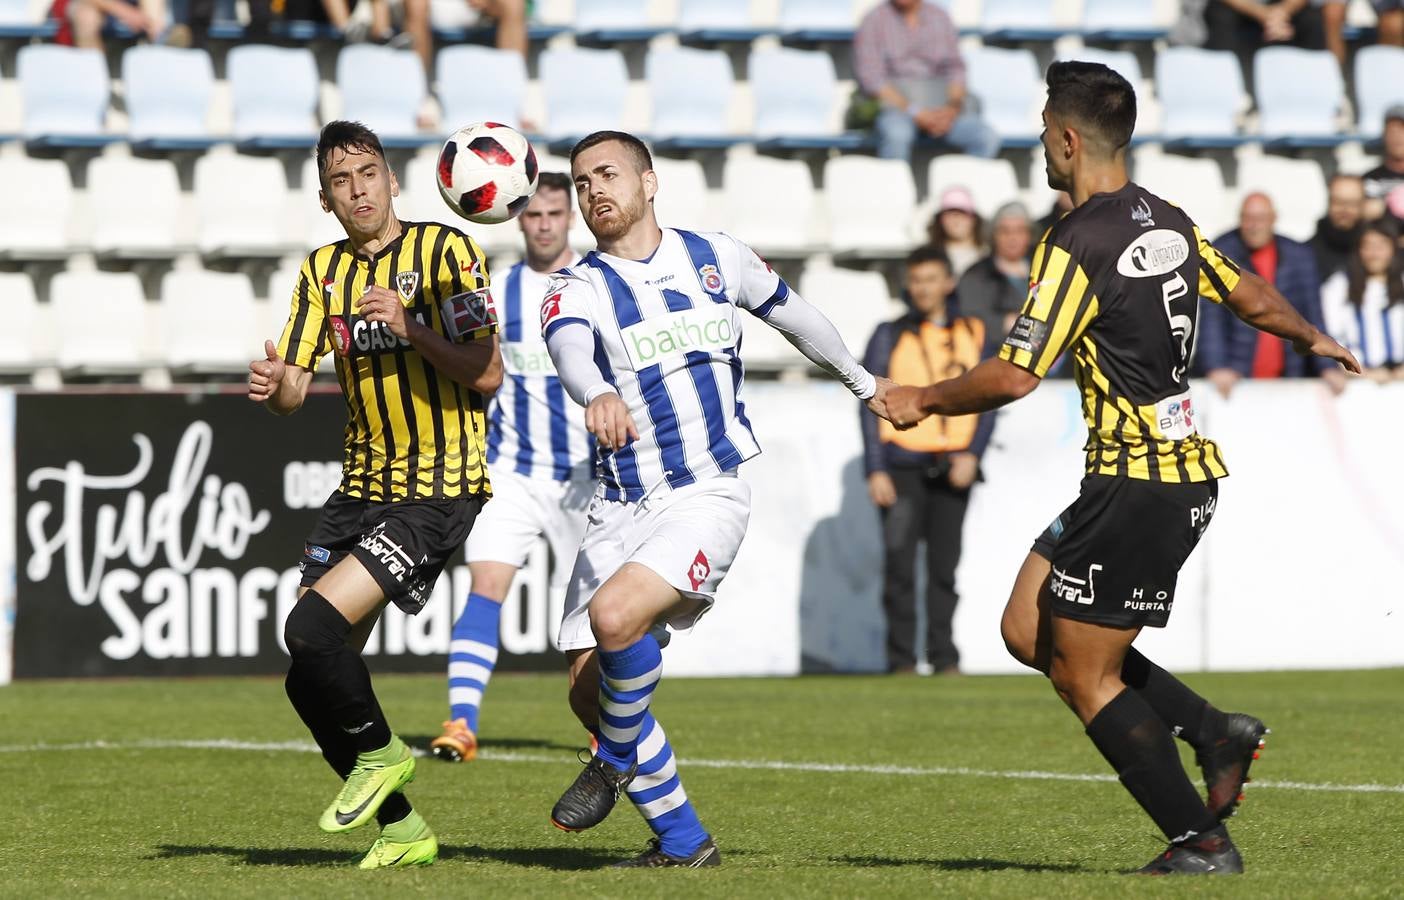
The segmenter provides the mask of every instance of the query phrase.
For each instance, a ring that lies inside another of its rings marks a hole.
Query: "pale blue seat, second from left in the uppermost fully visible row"
[[[122,53],[128,136],[152,149],[201,149],[209,126],[215,66],[205,51],[136,45]]]

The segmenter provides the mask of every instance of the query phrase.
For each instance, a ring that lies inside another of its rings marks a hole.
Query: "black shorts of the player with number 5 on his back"
[[[1164,628],[1179,567],[1219,501],[1219,482],[1168,484],[1090,475],[1033,542],[1053,564],[1053,615],[1113,628]]]

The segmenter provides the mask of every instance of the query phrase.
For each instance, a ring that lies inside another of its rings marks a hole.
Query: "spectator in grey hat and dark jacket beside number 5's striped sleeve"
[[[990,256],[960,277],[956,285],[960,312],[984,323],[991,340],[1002,338],[1029,293],[1029,250],[1033,223],[1024,204],[1000,206],[990,226]]]

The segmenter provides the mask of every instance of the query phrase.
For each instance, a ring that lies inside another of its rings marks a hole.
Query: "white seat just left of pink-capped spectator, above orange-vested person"
[[[906,256],[917,184],[907,160],[845,154],[824,163],[828,243],[835,254]]]

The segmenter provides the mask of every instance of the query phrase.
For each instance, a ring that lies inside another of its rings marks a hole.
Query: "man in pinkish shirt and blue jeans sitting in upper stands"
[[[858,25],[854,72],[878,98],[878,156],[911,159],[924,133],[972,156],[1000,152],[1000,136],[984,124],[966,93],[966,69],[956,27],[939,6],[885,0]]]

